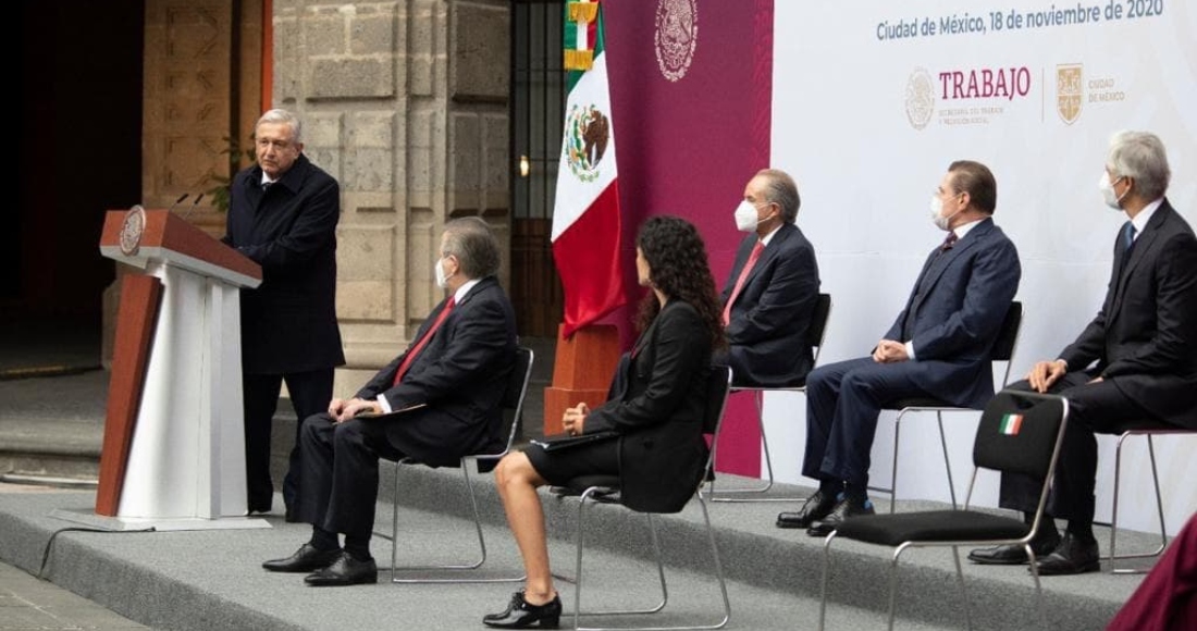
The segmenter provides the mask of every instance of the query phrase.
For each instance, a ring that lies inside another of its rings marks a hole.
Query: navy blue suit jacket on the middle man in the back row
[[[1019,251],[992,219],[950,249],[932,250],[906,308],[885,334],[915,346],[916,359],[898,365],[936,399],[984,407],[994,396],[990,350],[1021,277]]]

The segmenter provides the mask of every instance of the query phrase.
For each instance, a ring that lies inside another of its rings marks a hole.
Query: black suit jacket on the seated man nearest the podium
[[[429,314],[413,345],[432,326],[445,301]],[[503,449],[503,393],[515,366],[516,317],[494,278],[466,293],[393,386],[411,347],[378,371],[357,395],[384,395],[391,409],[426,407],[387,415],[387,437],[396,449],[431,466],[457,465],[461,456]],[[369,420],[366,423],[370,423]]]

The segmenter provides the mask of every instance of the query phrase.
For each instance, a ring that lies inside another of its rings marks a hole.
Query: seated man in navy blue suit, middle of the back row
[[[802,474],[819,491],[780,528],[824,536],[844,518],[873,512],[869,453],[877,415],[906,398],[980,408],[994,396],[990,351],[1019,290],[1014,243],[994,225],[997,183],[984,164],[948,166],[931,219],[948,232],[926,257],[906,308],[870,357],[816,368],[807,377]]]

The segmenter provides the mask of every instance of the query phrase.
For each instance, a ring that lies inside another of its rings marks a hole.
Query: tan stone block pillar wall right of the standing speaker
[[[443,297],[448,219],[481,216],[510,249],[509,22],[505,0],[274,1],[274,105],[303,117],[306,154],[341,183],[339,395]]]

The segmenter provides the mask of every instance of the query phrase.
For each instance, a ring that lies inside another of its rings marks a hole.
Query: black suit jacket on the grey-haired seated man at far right
[[[1129,256],[1119,241],[1101,310],[1059,357],[1095,363],[1152,414],[1197,429],[1197,238],[1163,200]]]

